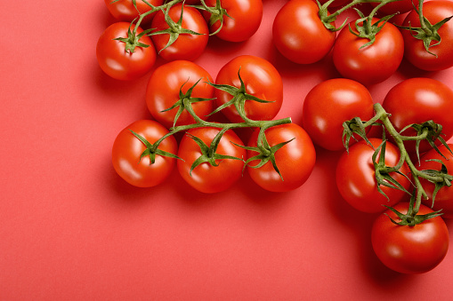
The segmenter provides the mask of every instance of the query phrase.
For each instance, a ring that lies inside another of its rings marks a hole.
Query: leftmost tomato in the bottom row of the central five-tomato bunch
[[[168,131],[155,121],[139,120],[120,131],[112,147],[113,167],[121,178],[133,186],[158,186],[174,170],[176,159],[158,154],[156,161],[152,164],[150,164],[150,156],[140,159],[146,147],[130,130],[141,135],[151,144],[166,135]],[[173,136],[166,138],[159,144],[158,149],[176,154],[178,151],[176,139]]]

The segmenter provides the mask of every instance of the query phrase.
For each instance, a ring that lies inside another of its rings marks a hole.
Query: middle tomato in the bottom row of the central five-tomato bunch
[[[220,129],[203,127],[191,129],[187,131],[187,134],[201,139],[209,147],[219,131]],[[220,139],[216,154],[245,159],[247,151],[233,143],[244,145],[234,131],[226,131]],[[202,152],[195,140],[185,135],[179,147],[178,156],[182,160],[178,160],[178,170],[182,178],[198,191],[205,194],[219,193],[231,187],[242,177],[244,161],[234,159],[215,160],[217,166],[213,166],[209,162],[202,162],[190,172],[193,162],[201,155]]]

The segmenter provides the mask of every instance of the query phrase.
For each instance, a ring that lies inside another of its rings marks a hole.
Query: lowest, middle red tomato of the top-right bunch
[[[373,18],[373,23],[377,21]],[[351,28],[357,33],[354,22]],[[381,83],[400,67],[404,54],[404,41],[400,30],[390,22],[376,34],[374,44],[362,49],[368,39],[352,35],[349,27],[345,26],[338,36],[333,50],[336,70],[346,78],[365,85]]]

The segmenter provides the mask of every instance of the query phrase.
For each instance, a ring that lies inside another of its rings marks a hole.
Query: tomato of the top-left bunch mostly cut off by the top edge
[[[133,0],[118,0],[117,2],[113,2],[113,0],[104,0],[104,2],[112,16],[120,21],[132,22],[135,18],[140,17],[140,13],[150,12],[151,10],[150,5],[142,0],[137,0],[135,2],[137,8],[133,6]],[[160,6],[164,3],[163,0],[150,0],[147,2],[154,6]],[[141,24],[149,23],[154,15],[155,13],[151,13],[143,18]]]

